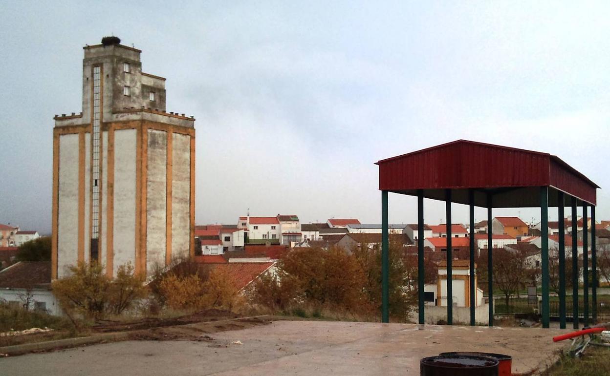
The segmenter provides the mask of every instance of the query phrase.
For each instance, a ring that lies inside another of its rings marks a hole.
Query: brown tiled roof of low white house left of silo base
[[[22,261],[0,272],[0,288],[35,288],[48,283],[51,261]]]

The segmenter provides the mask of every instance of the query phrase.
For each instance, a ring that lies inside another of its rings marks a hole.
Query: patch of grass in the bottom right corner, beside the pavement
[[[610,375],[610,348],[589,346],[580,358],[564,355],[546,376],[603,376]]]

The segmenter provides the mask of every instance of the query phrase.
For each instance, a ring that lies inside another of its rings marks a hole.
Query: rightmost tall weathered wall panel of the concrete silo
[[[190,241],[190,136],[173,133],[171,258],[187,257]]]

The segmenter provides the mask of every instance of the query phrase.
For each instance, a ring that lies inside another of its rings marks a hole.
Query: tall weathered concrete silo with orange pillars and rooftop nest
[[[84,47],[82,113],[55,116],[52,277],[98,260],[139,274],[194,252],[195,119],[117,37]]]

